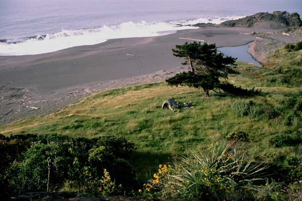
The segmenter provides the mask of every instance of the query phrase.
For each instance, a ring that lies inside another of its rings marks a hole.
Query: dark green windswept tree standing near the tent
[[[184,57],[184,65],[189,65],[189,72],[176,74],[166,82],[170,85],[187,85],[189,87],[202,88],[203,95],[209,96],[209,91],[220,89],[219,78],[228,79],[229,74],[239,74],[235,70],[236,59],[232,56],[224,56],[217,51],[215,44],[201,44],[200,42],[176,45],[172,49],[173,55]]]

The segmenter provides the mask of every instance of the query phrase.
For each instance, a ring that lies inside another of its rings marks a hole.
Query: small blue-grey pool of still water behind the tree
[[[253,63],[257,66],[262,66],[257,60],[255,60],[251,54],[248,53],[249,44],[233,46],[233,47],[219,47],[218,51],[222,52],[226,56],[233,56],[237,58],[237,61],[244,61]]]

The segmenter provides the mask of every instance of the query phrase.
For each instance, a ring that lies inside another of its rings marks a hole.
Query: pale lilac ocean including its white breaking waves
[[[301,0],[0,0],[0,55],[147,37],[258,12],[302,14]]]

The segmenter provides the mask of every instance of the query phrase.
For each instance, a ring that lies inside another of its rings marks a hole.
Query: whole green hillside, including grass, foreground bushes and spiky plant
[[[44,117],[2,125],[0,186],[13,194],[41,191],[50,179],[54,191],[301,200],[300,46],[277,50],[263,67],[238,62],[241,74],[229,82],[255,87],[261,91],[257,96],[211,92],[204,98],[198,89],[146,84],[108,90]],[[162,109],[169,98],[193,107]],[[34,135],[24,136],[28,133]],[[174,155],[183,157],[172,162]],[[256,181],[256,188],[246,179]]]

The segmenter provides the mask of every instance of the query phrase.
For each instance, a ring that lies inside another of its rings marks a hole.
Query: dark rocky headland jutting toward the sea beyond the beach
[[[254,27],[265,22],[274,22],[274,25],[280,28],[286,27],[301,27],[302,21],[299,14],[284,11],[275,11],[272,14],[270,13],[257,13],[252,16],[247,16],[238,20],[229,20],[222,22],[220,26],[225,27]]]

